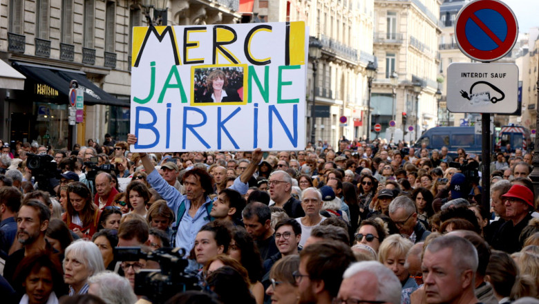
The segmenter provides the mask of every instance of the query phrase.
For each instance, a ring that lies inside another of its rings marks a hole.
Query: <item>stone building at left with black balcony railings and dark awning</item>
[[[105,133],[129,132],[131,32],[146,26],[136,0],[6,0],[0,5],[0,59],[26,77],[4,86],[0,138],[55,149]],[[239,0],[165,1],[168,25],[236,23]],[[153,11],[150,10],[150,15]],[[70,80],[84,88],[84,122],[68,124]]]

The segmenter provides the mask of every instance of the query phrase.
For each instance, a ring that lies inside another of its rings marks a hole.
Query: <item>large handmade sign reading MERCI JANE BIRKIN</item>
[[[132,151],[305,146],[305,23],[133,28]]]

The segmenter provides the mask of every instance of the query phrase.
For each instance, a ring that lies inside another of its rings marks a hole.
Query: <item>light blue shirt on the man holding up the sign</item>
[[[164,180],[157,170],[151,171],[148,175],[148,182],[151,184],[151,187],[155,189],[163,198],[167,201],[167,205],[174,212],[178,214],[178,209],[180,209],[181,204],[185,204],[185,213],[180,220],[178,227],[178,232],[176,233],[176,247],[184,248],[189,254],[189,251],[193,248],[195,244],[196,234],[200,231],[202,226],[206,225],[209,222],[209,215],[207,213],[207,205],[211,204],[213,201],[206,196],[206,201],[198,208],[194,217],[189,215],[189,208],[191,208],[191,200],[187,199],[187,196],[180,193],[176,188],[172,187],[166,180]],[[240,178],[234,180],[234,185],[230,187],[238,191],[241,195],[247,193],[249,185],[241,182]]]

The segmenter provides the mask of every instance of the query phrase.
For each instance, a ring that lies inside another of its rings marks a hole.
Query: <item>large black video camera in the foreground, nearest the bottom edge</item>
[[[185,273],[185,249],[160,248],[144,253],[140,247],[116,247],[114,257],[120,261],[154,260],[161,269],[141,269],[135,274],[135,294],[152,303],[164,303],[179,292],[202,290],[198,278]]]

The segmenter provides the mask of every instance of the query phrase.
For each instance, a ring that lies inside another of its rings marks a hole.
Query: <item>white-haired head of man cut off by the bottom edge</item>
[[[388,268],[376,261],[353,263],[332,304],[399,304],[401,283]],[[408,302],[409,303],[409,302]]]

